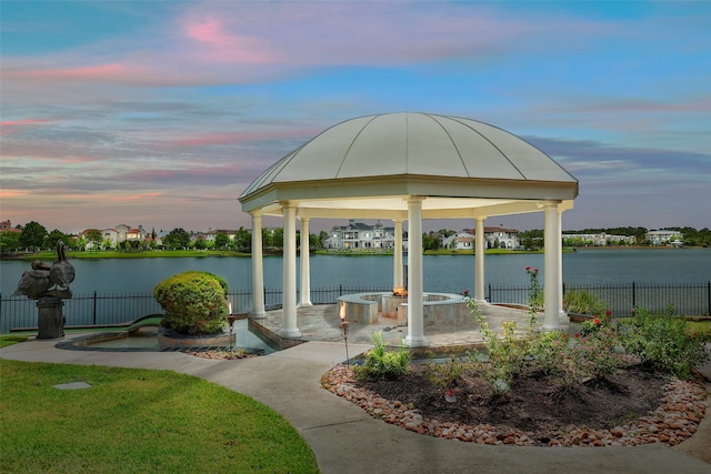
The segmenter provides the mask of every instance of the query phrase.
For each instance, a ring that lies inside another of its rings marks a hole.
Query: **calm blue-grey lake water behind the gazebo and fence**
[[[460,293],[473,291],[474,255],[425,255],[424,291]],[[74,294],[147,293],[162,280],[188,270],[209,271],[227,280],[231,291],[250,290],[249,258],[174,258],[71,260],[77,279]],[[311,255],[311,288],[392,285],[391,256]],[[541,270],[542,254],[487,255],[485,283],[528,285],[525,268]],[[0,293],[10,296],[24,261],[0,262]],[[581,249],[563,254],[565,284],[602,283],[701,283],[711,281],[711,249]],[[264,288],[281,289],[282,259],[264,258]]]

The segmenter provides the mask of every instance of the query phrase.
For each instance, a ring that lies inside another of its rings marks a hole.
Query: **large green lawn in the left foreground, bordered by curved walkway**
[[[286,418],[193,376],[1,360],[0,384],[2,473],[318,472]]]

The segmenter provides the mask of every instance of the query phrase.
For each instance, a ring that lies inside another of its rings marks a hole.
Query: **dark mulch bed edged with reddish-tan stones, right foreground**
[[[322,383],[372,416],[417,433],[528,446],[675,445],[697,431],[708,395],[701,380],[672,380],[635,363],[564,393],[529,372],[501,397],[480,375],[465,373],[453,386],[454,403],[430,383],[422,364],[400,380],[377,382],[358,381],[339,365]]]

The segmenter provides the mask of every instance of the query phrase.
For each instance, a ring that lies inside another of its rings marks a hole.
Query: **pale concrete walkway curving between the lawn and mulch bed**
[[[74,339],[81,334],[68,335]],[[139,369],[163,369],[212,381],[286,416],[310,444],[322,473],[711,473],[711,418],[677,447],[487,446],[418,435],[374,420],[320,385],[344,360],[342,342],[310,341],[267,356],[216,361],[178,352],[94,352],[30,341],[0,357]],[[369,349],[350,343],[350,355]],[[711,365],[704,367],[711,377]],[[68,381],[73,382],[73,381]],[[707,462],[700,457],[707,456]]]

